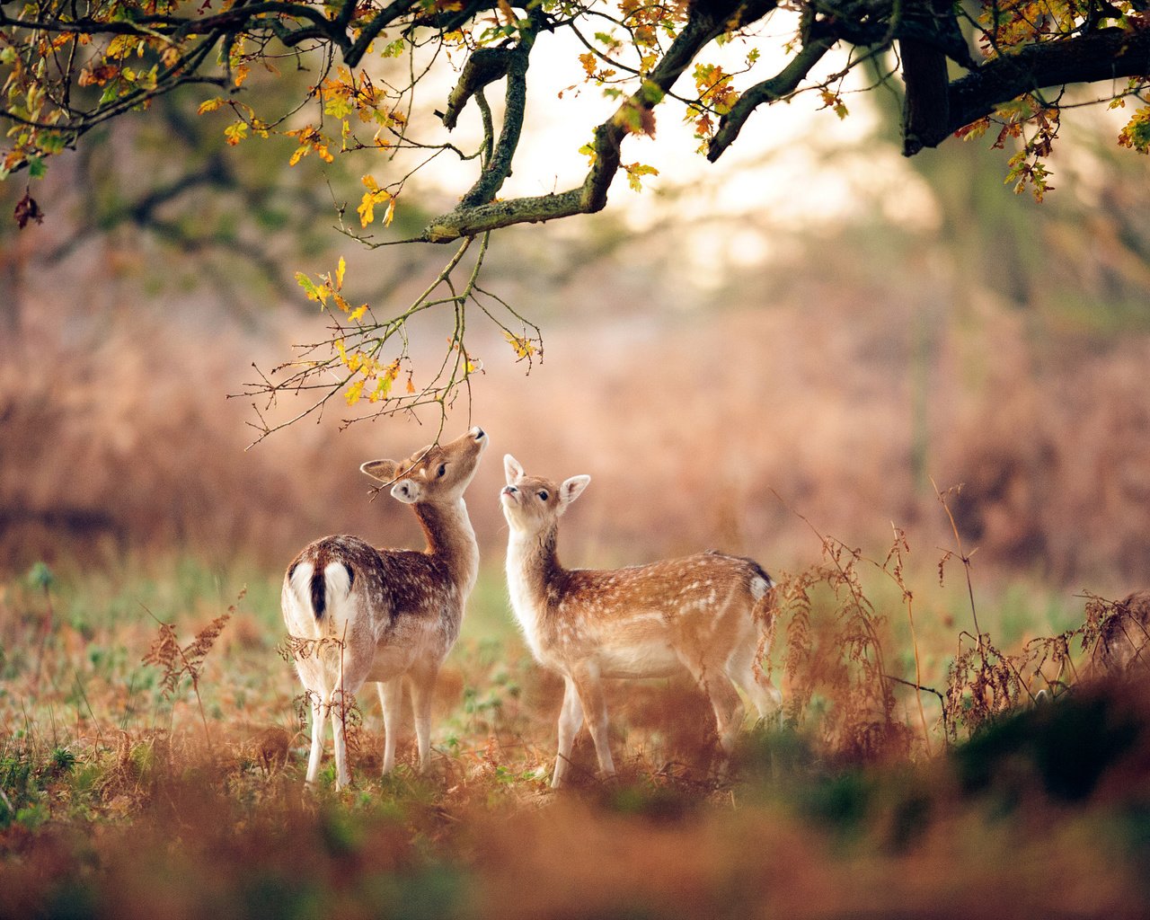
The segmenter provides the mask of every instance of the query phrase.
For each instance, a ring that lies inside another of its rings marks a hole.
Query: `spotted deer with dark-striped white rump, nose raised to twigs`
[[[360,467],[412,506],[427,537],[424,551],[377,550],[343,535],[309,544],[288,567],[281,592],[284,622],[312,703],[308,783],[320,770],[330,719],[336,783],[347,784],[346,706],[367,682],[377,684],[383,706],[383,773],[396,762],[405,681],[420,772],[427,770],[432,690],[478,573],[480,551],[463,491],[486,446],[483,429],[473,428],[407,460],[371,460]]]

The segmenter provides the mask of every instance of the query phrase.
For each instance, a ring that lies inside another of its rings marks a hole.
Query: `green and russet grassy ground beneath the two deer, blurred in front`
[[[929,586],[933,572],[906,577],[921,585],[922,682],[941,689],[969,611],[950,606],[957,585]],[[373,697],[352,733],[353,785],[334,789],[329,760],[305,791],[299,687],[274,650],[278,576],[181,559],[45,581],[0,586],[0,917],[1137,917],[1150,904],[1144,692],[1014,708],[954,744],[935,710],[928,757],[836,746],[830,715],[865,689],[851,670],[782,727],[749,728],[720,775],[702,695],[626,683],[610,700],[619,780],[595,779],[582,738],[574,788],[554,793],[561,689],[524,653],[489,569],[438,690],[432,775],[413,773],[409,723],[399,768],[377,775]],[[908,634],[902,591],[866,566],[859,585],[890,672],[913,673],[892,651]],[[1003,647],[1073,616],[1022,583],[984,590],[983,630],[1017,636]],[[839,616],[836,597],[812,588],[813,649],[862,615]],[[185,673],[164,692],[164,668],[143,662],[159,634],[144,607],[184,647],[233,608],[195,689]],[[787,670],[785,626],[784,684],[804,678]],[[891,718],[920,731],[912,691],[896,697]]]

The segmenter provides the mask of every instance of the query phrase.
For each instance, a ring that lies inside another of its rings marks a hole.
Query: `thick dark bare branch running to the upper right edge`
[[[950,84],[949,120],[921,135],[921,147],[936,147],[959,128],[983,118],[1023,93],[1068,83],[1140,77],[1150,74],[1150,30],[1099,32],[1028,45],[1017,54],[988,61]],[[907,151],[907,155],[915,153]]]

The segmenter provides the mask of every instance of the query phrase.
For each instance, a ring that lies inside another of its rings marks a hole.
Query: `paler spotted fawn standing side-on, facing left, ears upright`
[[[744,714],[736,685],[760,716],[779,711],[781,695],[759,660],[774,583],[757,562],[707,552],[630,568],[566,569],[555,555],[559,519],[591,477],[557,485],[527,476],[509,454],[504,471],[512,608],[535,659],[566,684],[552,787],[564,782],[584,713],[600,772],[615,772],[603,677],[685,669],[710,698],[728,754]]]

